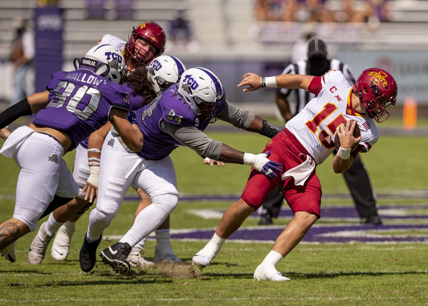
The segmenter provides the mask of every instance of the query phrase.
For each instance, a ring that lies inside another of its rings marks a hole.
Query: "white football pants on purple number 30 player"
[[[13,141],[14,133],[9,138]],[[74,198],[79,193],[79,186],[62,159],[63,153],[61,143],[37,132],[30,134],[13,153],[16,164],[21,168],[13,217],[24,222],[30,231],[36,229],[39,217],[55,194]]]

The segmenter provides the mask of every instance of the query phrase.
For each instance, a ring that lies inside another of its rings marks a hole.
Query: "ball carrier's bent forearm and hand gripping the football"
[[[354,162],[354,157],[351,155],[351,148],[359,143],[361,136],[358,138],[354,137],[354,128],[356,122],[354,121],[352,125],[347,123],[347,126],[339,125],[336,129],[336,133],[340,140],[340,148],[337,151],[336,156],[333,158],[333,171],[334,173],[342,173]]]

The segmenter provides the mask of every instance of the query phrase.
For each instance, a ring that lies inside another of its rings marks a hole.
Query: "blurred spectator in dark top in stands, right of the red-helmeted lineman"
[[[199,43],[193,39],[189,21],[184,18],[184,14],[185,11],[182,8],[175,10],[174,19],[169,23],[168,44],[172,44],[175,51],[196,52],[199,50]]]

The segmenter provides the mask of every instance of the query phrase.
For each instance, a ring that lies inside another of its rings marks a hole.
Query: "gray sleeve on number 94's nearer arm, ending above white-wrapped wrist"
[[[202,154],[208,158],[218,160],[220,157],[223,143],[211,139],[202,131],[194,127],[181,127],[171,123],[161,121],[160,129],[166,134],[171,135],[175,140],[196,153]]]

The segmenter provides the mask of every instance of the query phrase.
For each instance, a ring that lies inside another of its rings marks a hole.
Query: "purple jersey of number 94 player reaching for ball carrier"
[[[170,86],[162,95],[137,110],[137,124],[144,136],[143,149],[137,154],[149,160],[167,157],[181,146],[171,135],[163,132],[159,124],[162,120],[173,125],[196,127],[204,131],[210,118],[201,120],[195,115],[187,101],[177,92],[178,83]]]

